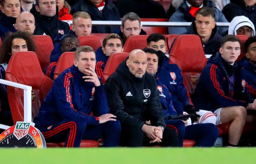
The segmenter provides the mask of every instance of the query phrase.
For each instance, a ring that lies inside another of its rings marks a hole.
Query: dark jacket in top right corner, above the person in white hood
[[[246,16],[253,22],[254,27],[256,27],[256,4],[247,7],[244,0],[230,0],[230,4],[227,4],[223,8],[222,13],[228,22],[231,22],[235,16]]]

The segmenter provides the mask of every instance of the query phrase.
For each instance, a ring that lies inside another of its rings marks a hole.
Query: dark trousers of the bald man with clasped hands
[[[176,130],[166,127],[163,132],[162,142],[150,144],[151,140],[146,136],[144,131],[137,126],[130,126],[127,124],[121,124],[121,138],[120,146],[129,146],[129,147],[140,147],[140,146],[153,146],[153,145],[162,145],[162,146],[178,146],[178,138]]]

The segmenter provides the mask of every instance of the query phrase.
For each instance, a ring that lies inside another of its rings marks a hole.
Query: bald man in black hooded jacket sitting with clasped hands
[[[135,49],[105,83],[110,113],[121,122],[120,145],[178,146],[176,131],[166,128],[156,81],[146,67],[146,53]]]

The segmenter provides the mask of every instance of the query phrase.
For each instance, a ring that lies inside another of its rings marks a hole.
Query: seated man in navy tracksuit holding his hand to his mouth
[[[92,47],[79,47],[74,65],[54,81],[34,119],[46,142],[79,147],[82,139],[103,138],[104,146],[118,146],[120,122],[109,114],[104,86],[94,71],[95,58]]]

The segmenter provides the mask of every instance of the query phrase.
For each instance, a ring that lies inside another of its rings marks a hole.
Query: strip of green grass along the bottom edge
[[[0,148],[1,164],[255,164],[256,148]]]

